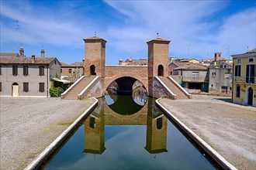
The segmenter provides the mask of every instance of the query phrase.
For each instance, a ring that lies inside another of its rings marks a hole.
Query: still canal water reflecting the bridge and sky
[[[216,169],[145,93],[99,99],[45,169]]]

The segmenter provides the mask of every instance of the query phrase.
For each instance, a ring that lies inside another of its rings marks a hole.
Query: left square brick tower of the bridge
[[[85,41],[85,76],[105,76],[106,40],[92,36]]]

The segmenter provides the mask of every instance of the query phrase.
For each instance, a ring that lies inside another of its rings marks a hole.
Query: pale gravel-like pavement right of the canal
[[[256,168],[256,108],[193,95],[160,103],[237,169]]]

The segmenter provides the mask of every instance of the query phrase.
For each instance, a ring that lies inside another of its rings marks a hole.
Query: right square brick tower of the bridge
[[[154,97],[154,76],[168,76],[169,43],[166,39],[152,39],[148,46],[148,94]]]

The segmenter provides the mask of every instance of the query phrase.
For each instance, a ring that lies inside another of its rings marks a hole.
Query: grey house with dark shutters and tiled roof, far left
[[[61,76],[55,57],[0,56],[0,96],[50,97],[51,80]]]

